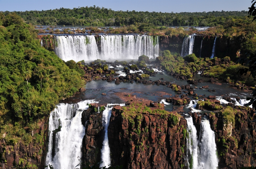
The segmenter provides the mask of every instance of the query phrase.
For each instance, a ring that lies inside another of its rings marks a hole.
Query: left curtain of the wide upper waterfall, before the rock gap
[[[55,36],[54,52],[64,61],[95,60],[99,51],[95,36]]]

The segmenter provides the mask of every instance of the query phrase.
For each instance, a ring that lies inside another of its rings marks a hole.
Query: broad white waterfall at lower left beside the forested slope
[[[82,112],[88,104],[97,103],[85,100],[75,104],[60,103],[50,113],[49,143],[46,164],[55,169],[74,168],[81,157],[81,147],[85,127],[82,125]],[[48,167],[49,168],[49,167]]]

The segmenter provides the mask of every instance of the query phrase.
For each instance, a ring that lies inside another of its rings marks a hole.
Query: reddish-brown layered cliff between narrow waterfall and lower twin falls
[[[124,118],[122,112],[120,106],[112,109],[108,128],[113,165],[138,169],[184,166],[185,119],[180,117],[175,125],[170,115],[142,114],[132,126],[132,120]]]

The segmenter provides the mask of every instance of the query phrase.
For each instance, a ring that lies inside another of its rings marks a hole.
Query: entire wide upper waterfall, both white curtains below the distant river
[[[138,59],[143,54],[149,58],[156,58],[159,53],[158,36],[100,35],[99,37],[96,42],[94,35],[55,36],[54,52],[64,61],[76,62],[96,59]]]

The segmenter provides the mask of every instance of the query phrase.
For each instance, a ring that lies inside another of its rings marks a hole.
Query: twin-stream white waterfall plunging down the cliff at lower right
[[[187,165],[190,169],[217,169],[215,134],[209,120],[201,120],[199,138],[191,116],[187,120]]]

